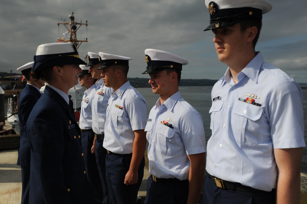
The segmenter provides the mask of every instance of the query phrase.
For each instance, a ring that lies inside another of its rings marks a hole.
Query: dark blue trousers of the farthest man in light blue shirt
[[[100,174],[96,163],[95,154],[91,153],[91,148],[93,146],[95,135],[94,132],[82,132],[82,150],[83,157],[85,161],[85,170],[88,182],[91,186],[91,191],[95,198],[95,203],[103,203],[103,190],[102,184],[100,182]]]

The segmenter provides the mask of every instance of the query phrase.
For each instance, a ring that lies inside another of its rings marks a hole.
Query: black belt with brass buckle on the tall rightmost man
[[[249,186],[244,186],[241,183],[224,181],[222,179],[216,178],[209,174],[208,176],[215,183],[215,185],[220,188],[230,189],[232,191],[249,192],[249,193],[266,192],[266,191],[258,190],[258,189],[255,189]]]

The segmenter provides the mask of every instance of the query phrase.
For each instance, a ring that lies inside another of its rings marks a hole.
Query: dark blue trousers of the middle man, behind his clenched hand
[[[131,154],[107,154],[106,172],[111,204],[135,204],[138,190],[144,176],[145,157],[138,168],[138,182],[132,185],[124,184],[129,170]]]

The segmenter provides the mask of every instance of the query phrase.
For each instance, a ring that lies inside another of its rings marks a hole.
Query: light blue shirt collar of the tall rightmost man
[[[255,83],[258,83],[258,76],[259,76],[259,71],[260,68],[262,67],[263,64],[263,56],[261,52],[257,52],[257,55],[252,59],[246,67],[238,74],[238,80],[240,81],[241,79],[244,78],[244,76],[247,76],[251,80],[253,80]],[[226,83],[229,83],[231,81],[231,74],[230,74],[230,68],[228,67],[225,75],[223,76],[222,79],[220,79],[220,86],[225,85]]]

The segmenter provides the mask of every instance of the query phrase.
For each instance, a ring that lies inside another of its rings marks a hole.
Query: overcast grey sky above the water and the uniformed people
[[[297,82],[307,82],[307,1],[271,0],[263,15],[256,46],[265,61],[281,68]],[[189,60],[182,79],[220,79],[227,66],[219,62],[204,0],[2,0],[0,6],[0,70],[13,73],[33,61],[37,46],[56,42],[67,31],[62,19],[87,20],[77,32],[88,39],[78,49],[131,57],[128,77],[149,78],[146,48],[172,52]],[[66,39],[68,36],[66,37]]]

